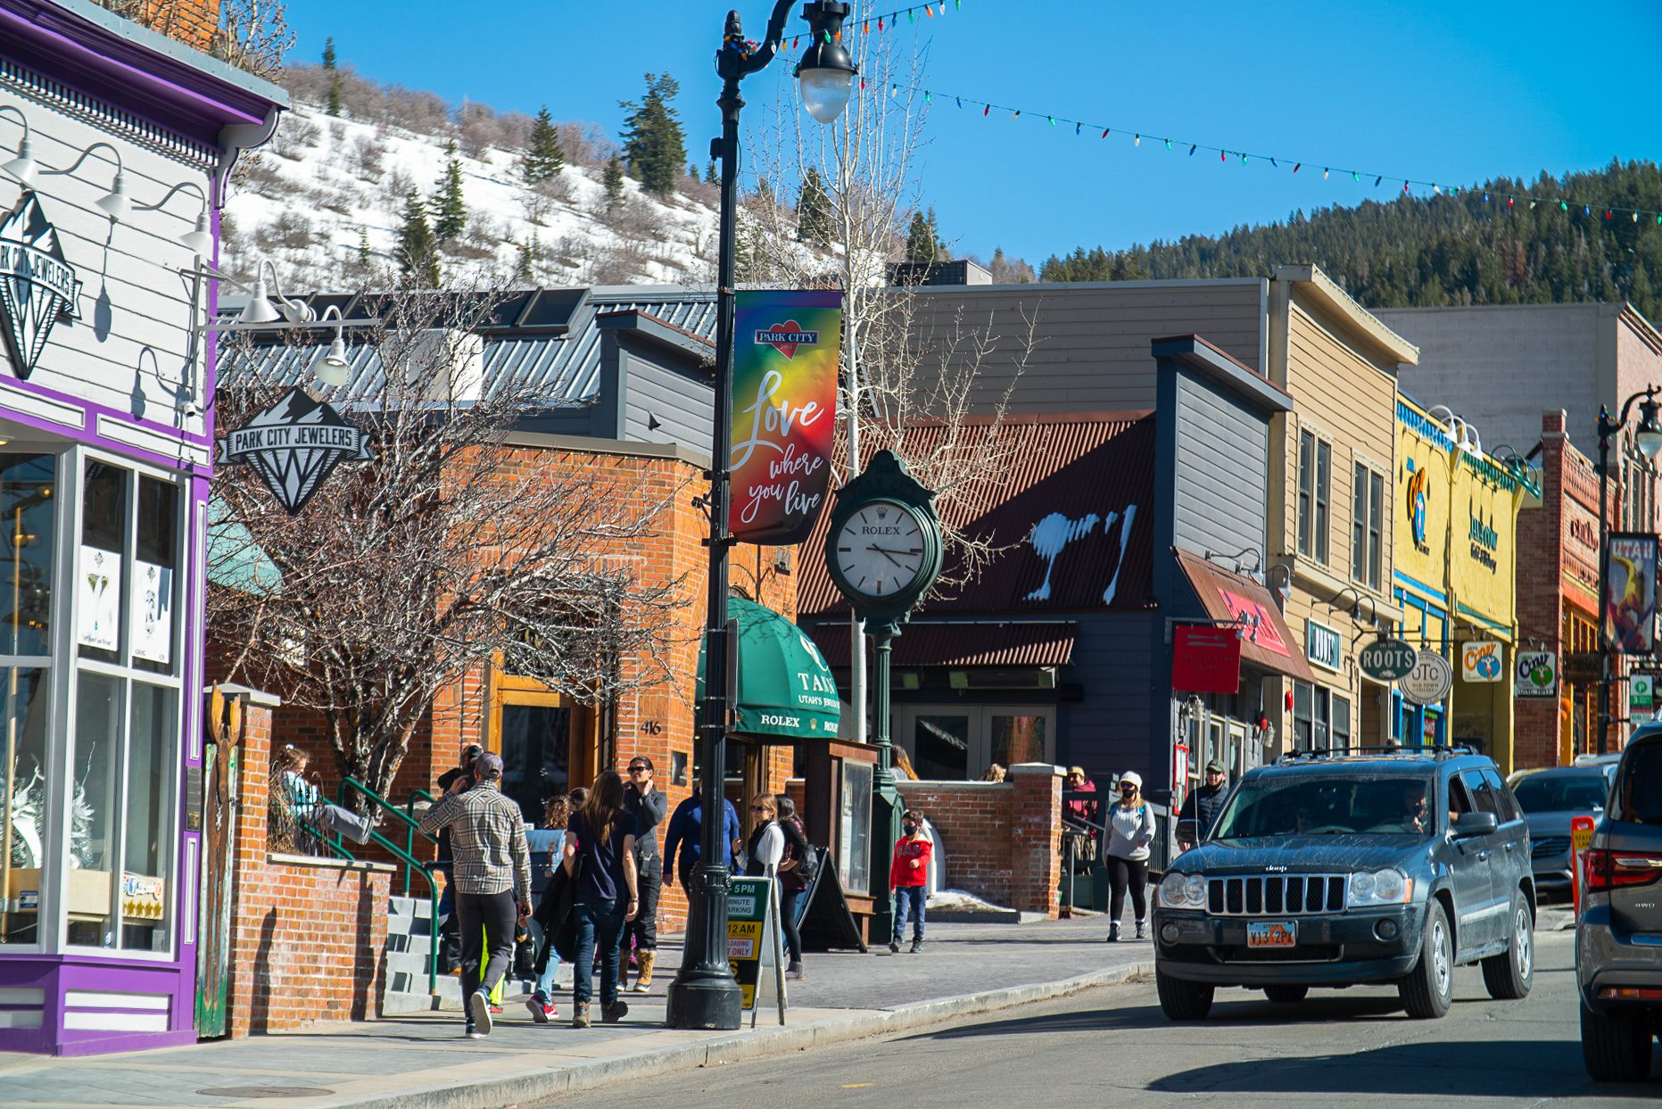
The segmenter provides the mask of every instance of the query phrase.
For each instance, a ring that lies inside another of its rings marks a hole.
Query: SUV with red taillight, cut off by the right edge
[[[1662,725],[1622,752],[1604,820],[1582,861],[1576,921],[1581,1057],[1601,1082],[1650,1074],[1662,1028]]]

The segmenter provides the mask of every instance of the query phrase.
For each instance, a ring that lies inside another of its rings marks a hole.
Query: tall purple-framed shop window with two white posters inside
[[[90,459],[75,572],[65,943],[170,949],[179,752],[178,485]]]

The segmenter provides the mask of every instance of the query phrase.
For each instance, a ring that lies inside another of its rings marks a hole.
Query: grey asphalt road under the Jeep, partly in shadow
[[[1491,1001],[1456,974],[1441,1021],[1393,989],[1315,991],[1275,1006],[1220,991],[1202,1024],[1170,1024],[1152,981],[969,1018],[922,1033],[608,1086],[558,1106],[1478,1106],[1657,1104],[1659,1077],[1594,1086],[1581,1064],[1567,931],[1537,933],[1534,991]]]

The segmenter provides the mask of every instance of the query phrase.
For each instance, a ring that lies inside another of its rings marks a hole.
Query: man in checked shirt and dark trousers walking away
[[[479,755],[472,773],[454,778],[419,826],[427,835],[450,831],[465,1033],[470,1039],[489,1036],[490,991],[509,971],[517,924],[530,916],[525,818],[502,793],[502,757]]]

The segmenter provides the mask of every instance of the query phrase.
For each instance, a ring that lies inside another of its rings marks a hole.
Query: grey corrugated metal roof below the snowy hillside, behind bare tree
[[[326,298],[314,298],[326,299]],[[228,309],[239,301],[228,299]],[[597,318],[608,313],[640,311],[673,328],[703,339],[713,339],[716,301],[711,289],[680,286],[595,286],[583,291],[568,324],[555,329],[527,331],[514,328],[482,329],[484,384],[494,392],[509,384],[529,386],[550,407],[587,404],[600,394],[600,328]],[[311,367],[329,349],[329,333],[317,331],[316,344],[256,346],[251,357],[221,356],[221,384],[258,382],[294,386],[309,379]],[[331,391],[334,404],[376,401],[386,387],[386,369],[376,347],[354,341],[346,333],[351,377]],[[221,347],[228,349],[228,347]]]

